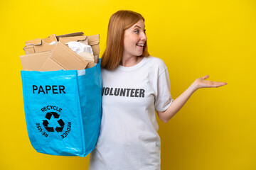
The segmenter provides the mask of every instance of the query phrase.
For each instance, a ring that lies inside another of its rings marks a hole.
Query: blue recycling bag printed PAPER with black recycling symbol
[[[100,62],[89,69],[21,71],[28,137],[37,152],[85,157],[102,118]]]

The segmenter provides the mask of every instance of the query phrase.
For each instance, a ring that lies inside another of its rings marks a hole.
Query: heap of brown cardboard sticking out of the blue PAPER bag
[[[50,45],[50,42],[53,41],[58,43]],[[93,67],[93,59],[92,61],[85,61],[85,56],[81,57],[77,55],[68,45],[65,45],[66,42],[70,41],[78,41],[85,45],[91,45],[93,55],[95,56],[94,62],[98,62],[100,35],[87,36],[83,35],[82,32],[58,36],[53,34],[48,38],[37,38],[26,41],[26,47],[23,48],[26,55],[20,57],[23,70],[55,71],[60,69],[70,70]]]

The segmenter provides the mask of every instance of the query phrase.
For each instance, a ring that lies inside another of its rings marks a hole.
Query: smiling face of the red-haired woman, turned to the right
[[[124,30],[124,50],[123,57],[133,57],[142,55],[146,34],[144,32],[145,24],[139,20],[132,27]]]

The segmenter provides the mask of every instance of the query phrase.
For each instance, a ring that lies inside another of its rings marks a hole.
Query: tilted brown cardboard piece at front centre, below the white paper
[[[50,60],[53,60],[53,62],[57,63],[64,70],[85,69],[88,64],[88,62],[83,60],[82,57],[73,52],[69,47],[65,46],[62,42],[57,43],[50,56]],[[41,70],[52,71],[51,67],[53,62],[46,62],[43,64],[43,67],[41,67]],[[49,68],[50,70],[48,70]]]

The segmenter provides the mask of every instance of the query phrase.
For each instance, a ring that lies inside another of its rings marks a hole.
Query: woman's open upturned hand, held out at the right
[[[220,82],[220,81],[205,80],[208,78],[209,78],[209,75],[196,79],[196,81],[193,82],[193,84],[196,86],[196,89],[207,88],[207,87],[219,87],[227,84],[225,82]]]

